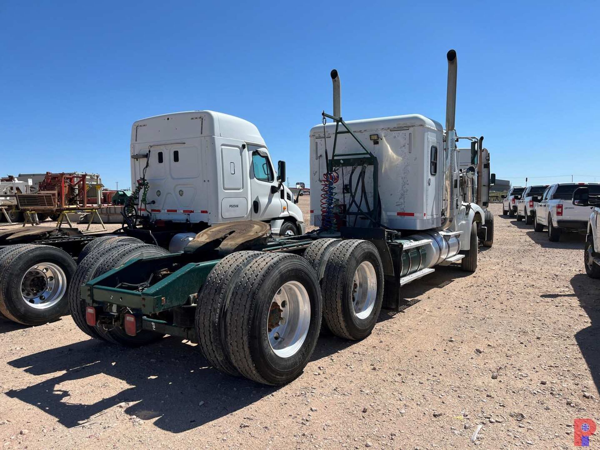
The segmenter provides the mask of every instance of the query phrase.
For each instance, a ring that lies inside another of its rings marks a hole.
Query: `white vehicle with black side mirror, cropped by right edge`
[[[592,208],[592,214],[587,221],[583,263],[586,266],[587,275],[592,278],[600,278],[600,194],[590,195],[589,187],[578,187],[573,193],[572,203],[584,211],[587,211],[585,206]]]

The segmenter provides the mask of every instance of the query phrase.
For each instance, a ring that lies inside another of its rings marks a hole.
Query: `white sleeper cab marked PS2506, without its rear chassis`
[[[283,184],[283,166],[277,174],[258,128],[235,116],[180,112],[131,127],[131,183],[143,184],[135,207],[145,222],[259,220],[274,234],[302,234],[304,218]]]

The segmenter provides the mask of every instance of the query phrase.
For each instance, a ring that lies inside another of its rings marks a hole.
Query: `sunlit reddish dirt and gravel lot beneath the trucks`
[[[600,423],[600,284],[583,272],[582,238],[549,242],[492,211],[475,274],[409,284],[403,313],[382,312],[361,342],[321,337],[283,388],[220,374],[176,338],[123,349],[70,317],[0,322],[0,445],[572,448],[574,418]]]

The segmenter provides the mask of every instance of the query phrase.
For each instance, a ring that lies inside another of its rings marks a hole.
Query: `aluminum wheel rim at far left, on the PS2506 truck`
[[[56,305],[67,292],[67,275],[55,263],[39,263],[25,271],[20,287],[23,302],[44,310]]]

